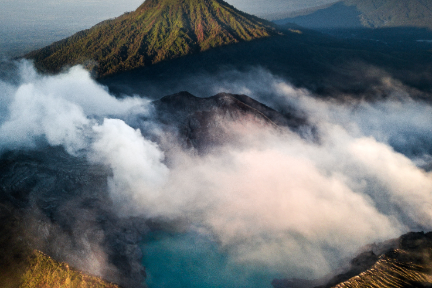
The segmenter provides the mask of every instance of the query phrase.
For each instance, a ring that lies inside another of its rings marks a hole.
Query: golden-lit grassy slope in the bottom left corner
[[[119,288],[33,250],[21,211],[0,203],[1,288]]]

